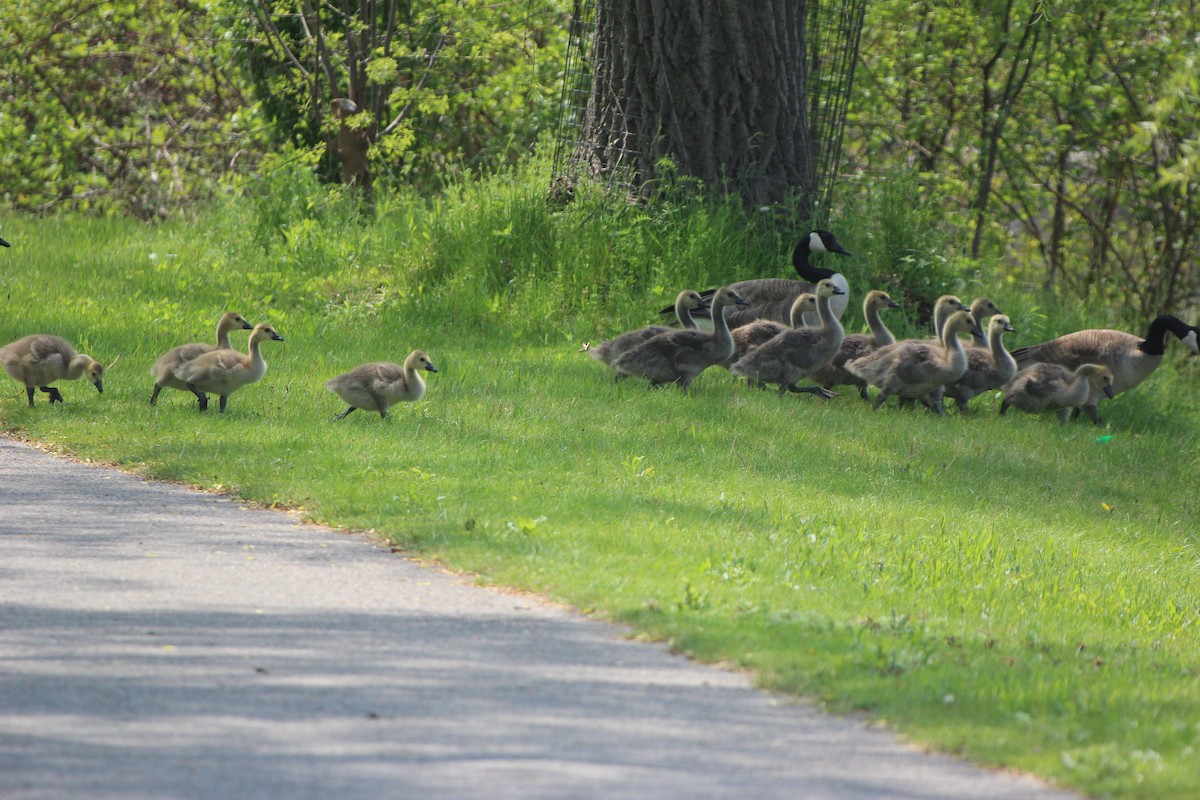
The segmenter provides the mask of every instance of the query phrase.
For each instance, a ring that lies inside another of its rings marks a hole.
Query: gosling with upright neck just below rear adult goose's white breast
[[[797,386],[796,381],[829,363],[841,347],[845,331],[830,309],[830,301],[840,294],[841,289],[833,279],[822,278],[816,291],[821,326],[787,329],[746,353],[730,367],[730,372],[752,384],[778,384],[780,393],[791,391],[835,397],[822,386]]]

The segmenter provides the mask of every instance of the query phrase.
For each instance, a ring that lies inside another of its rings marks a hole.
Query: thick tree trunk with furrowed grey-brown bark
[[[668,158],[748,203],[811,194],[805,13],[797,0],[600,0],[576,157],[643,188]]]

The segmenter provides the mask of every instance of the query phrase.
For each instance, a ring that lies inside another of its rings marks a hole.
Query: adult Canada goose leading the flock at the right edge
[[[1146,380],[1163,362],[1166,333],[1175,333],[1194,355],[1200,355],[1196,333],[1200,327],[1188,325],[1178,317],[1162,314],[1150,324],[1146,338],[1111,329],[1075,331],[1056,339],[1013,350],[1016,366],[1057,363],[1074,369],[1085,363],[1099,363],[1112,372],[1112,393],[1120,395]],[[1092,392],[1082,410],[1092,421],[1098,420],[1099,392]]]

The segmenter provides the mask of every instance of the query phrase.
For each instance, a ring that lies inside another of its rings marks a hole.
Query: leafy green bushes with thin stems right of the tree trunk
[[[1004,257],[1028,287],[1183,311],[1200,279],[1198,11],[874,2],[850,156],[869,174],[914,168],[960,252]]]

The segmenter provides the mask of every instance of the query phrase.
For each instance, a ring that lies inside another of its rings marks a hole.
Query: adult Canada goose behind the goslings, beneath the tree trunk
[[[756,319],[770,319],[787,325],[791,321],[792,303],[796,301],[796,297],[805,291],[816,293],[816,283],[826,278],[832,279],[842,291],[842,294],[834,297],[830,305],[834,315],[841,319],[841,315],[846,312],[846,305],[850,302],[850,283],[846,281],[846,276],[840,272],[814,266],[809,261],[809,257],[812,253],[850,255],[850,251],[842,247],[838,237],[828,230],[814,230],[809,233],[808,236],[800,239],[792,251],[792,267],[797,275],[804,278],[803,281],[756,278],[740,281],[728,287],[746,301],[745,308],[733,309],[728,313],[726,321],[730,327],[740,327]],[[712,294],[712,290],[702,291],[701,294],[708,296]],[[670,309],[664,309],[664,313],[666,312],[670,312]],[[703,317],[704,314],[701,312],[696,315]],[[821,324],[821,320],[816,313],[810,313],[805,315],[804,324],[816,327]]]

